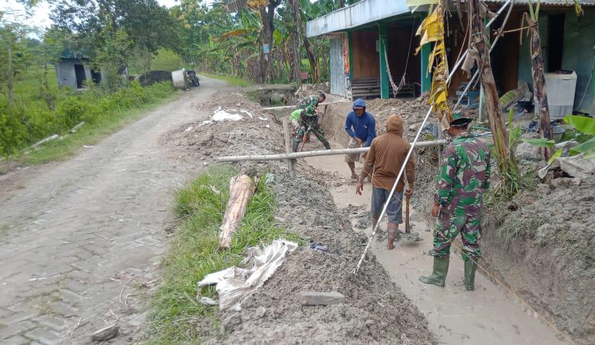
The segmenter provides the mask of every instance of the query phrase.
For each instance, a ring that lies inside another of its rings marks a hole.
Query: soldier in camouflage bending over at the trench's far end
[[[298,151],[300,142],[307,142],[307,137],[309,137],[310,132],[314,132],[314,135],[316,135],[318,140],[322,142],[324,147],[330,149],[330,144],[328,144],[328,140],[324,137],[324,130],[322,130],[318,123],[319,117],[316,113],[316,107],[318,107],[320,102],[324,102],[324,100],[326,100],[326,95],[324,95],[324,93],[319,93],[318,96],[305,97],[298,103],[298,108],[302,109],[302,121],[298,132],[295,133],[295,137],[293,138],[294,152]]]

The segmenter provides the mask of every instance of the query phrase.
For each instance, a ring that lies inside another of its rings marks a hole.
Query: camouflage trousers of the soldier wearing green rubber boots
[[[462,257],[467,261],[469,257],[481,257],[479,239],[481,238],[481,215],[449,214],[441,210],[434,224],[434,257],[450,255],[450,243],[461,234],[463,243]]]

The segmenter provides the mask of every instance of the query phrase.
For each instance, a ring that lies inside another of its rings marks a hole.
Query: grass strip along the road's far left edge
[[[116,114],[106,116],[96,123],[86,123],[73,135],[66,135],[60,140],[47,142],[28,154],[20,153],[10,156],[6,161],[0,162],[0,173],[9,170],[9,167],[14,165],[34,165],[70,158],[81,151],[83,145],[97,144],[108,135],[142,118],[147,111],[171,102],[179,96],[179,93],[171,93],[168,97],[142,104],[137,108],[117,111]]]

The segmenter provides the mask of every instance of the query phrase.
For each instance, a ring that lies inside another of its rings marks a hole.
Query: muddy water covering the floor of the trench
[[[349,169],[342,156],[311,157],[306,161],[314,168],[349,177]],[[361,167],[361,163],[356,165]],[[351,212],[352,222],[361,219],[364,214],[369,217],[369,184],[364,186],[363,196],[355,195],[354,183],[336,185],[330,193],[340,210],[359,208],[357,214]],[[384,236],[379,236],[380,239],[373,243],[372,250],[396,285],[424,313],[429,330],[436,334],[441,344],[565,344],[537,316],[523,309],[518,301],[483,275],[476,277],[475,292],[465,292],[461,281],[463,262],[460,255],[453,253],[450,256],[446,288],[424,285],[417,280],[422,274],[432,271],[432,257],[427,255],[432,248],[432,233],[427,231],[422,217],[413,213],[411,219],[414,231],[423,241],[399,241],[395,244],[396,248],[389,251],[384,232]],[[381,229],[386,229],[385,222],[381,223]],[[370,236],[371,223],[364,231],[366,236]]]

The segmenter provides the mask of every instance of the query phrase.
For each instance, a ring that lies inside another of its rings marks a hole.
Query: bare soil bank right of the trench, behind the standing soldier
[[[595,339],[595,177],[559,178],[486,210],[485,263],[577,344]]]

